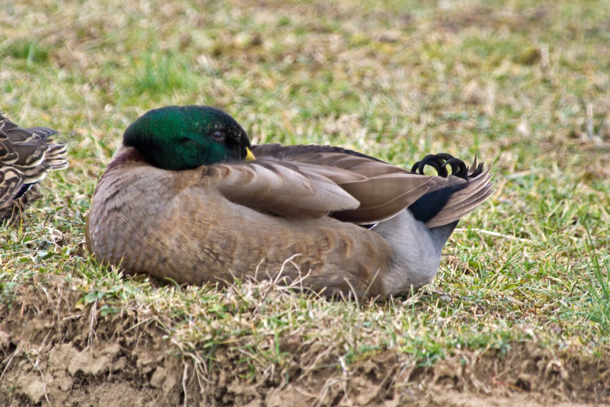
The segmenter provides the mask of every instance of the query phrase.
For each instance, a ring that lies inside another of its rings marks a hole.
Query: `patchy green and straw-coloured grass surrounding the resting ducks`
[[[0,226],[4,303],[60,276],[76,306],[154,320],[196,361],[234,349],[246,378],[288,374],[295,352],[350,364],[393,350],[427,366],[515,341],[608,351],[608,2],[103,3],[2,6],[0,107],[70,149],[23,225]],[[434,282],[389,303],[128,278],[90,258],[84,221],[123,130],[170,104],[220,107],[254,143],[406,167],[477,154],[497,192],[462,220]]]

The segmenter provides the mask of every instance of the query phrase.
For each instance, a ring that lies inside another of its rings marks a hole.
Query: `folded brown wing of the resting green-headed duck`
[[[299,146],[297,150],[315,147]],[[381,222],[403,211],[431,187],[448,182],[335,151],[291,156],[289,149],[279,145],[255,151],[262,159],[209,169],[221,170],[222,174],[215,173],[220,179],[234,178],[218,186],[229,200],[282,216],[321,217],[332,212],[332,217],[345,222]],[[274,153],[289,161],[278,161]]]

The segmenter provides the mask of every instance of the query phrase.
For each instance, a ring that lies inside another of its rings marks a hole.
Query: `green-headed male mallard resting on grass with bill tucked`
[[[163,107],[124,132],[87,247],[178,283],[281,273],[327,295],[386,297],[431,281],[459,218],[490,195],[489,170],[473,167],[448,154],[409,171],[339,147],[251,146],[221,110]]]

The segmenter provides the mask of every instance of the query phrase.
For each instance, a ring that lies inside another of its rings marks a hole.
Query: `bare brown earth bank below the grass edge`
[[[149,315],[101,317],[91,306],[75,308],[78,299],[57,279],[18,287],[10,305],[0,304],[0,405],[610,405],[610,359],[529,342],[512,344],[506,356],[463,351],[433,367],[395,351],[343,369],[337,356],[320,355],[318,367],[304,371],[311,356],[287,340],[289,383],[273,371],[247,381],[235,351],[217,350],[213,361],[184,353]]]

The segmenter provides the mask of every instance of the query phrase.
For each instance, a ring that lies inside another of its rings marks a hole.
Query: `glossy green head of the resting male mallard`
[[[123,145],[135,147],[165,170],[253,158],[250,140],[227,113],[209,106],[168,106],[150,110],[131,123]]]

